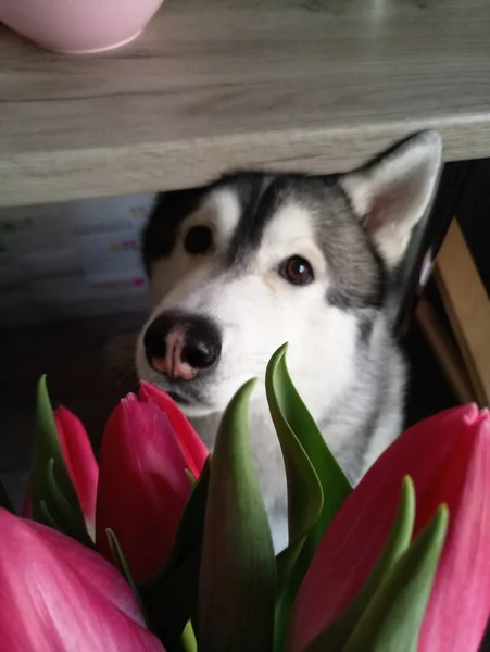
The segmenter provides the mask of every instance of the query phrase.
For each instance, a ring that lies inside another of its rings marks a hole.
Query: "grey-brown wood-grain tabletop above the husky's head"
[[[0,30],[0,205],[338,171],[426,127],[490,155],[488,0],[167,0],[86,58]]]

